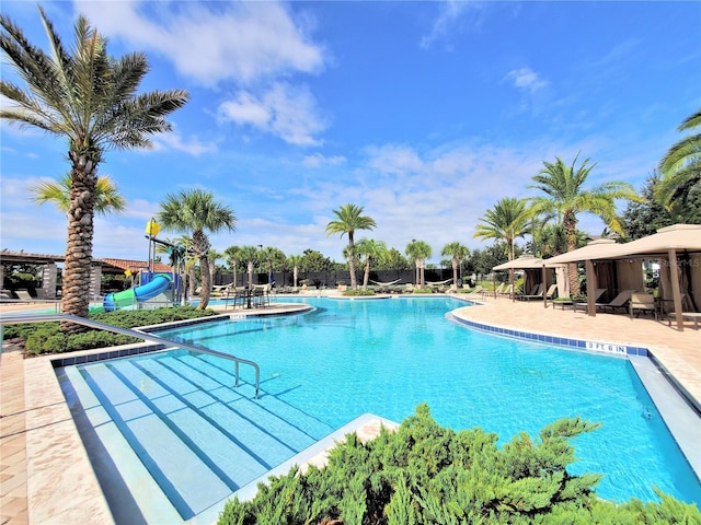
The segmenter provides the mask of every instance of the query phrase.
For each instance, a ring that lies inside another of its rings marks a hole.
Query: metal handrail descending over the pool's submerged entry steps
[[[192,345],[189,342],[174,341],[172,339],[165,339],[164,337],[154,336],[140,330],[133,330],[130,328],[122,328],[119,326],[106,325],[96,320],[88,319],[85,317],[79,317],[72,314],[36,314],[36,315],[2,315],[0,317],[0,335],[2,334],[2,327],[4,325],[18,325],[27,323],[44,323],[44,322],[70,322],[78,325],[90,326],[91,328],[99,328],[102,330],[114,331],[115,334],[122,334],[123,336],[136,337],[146,341],[157,342],[166,346],[173,346],[177,348],[184,348],[186,350],[199,353],[206,353],[216,358],[228,359],[235,363],[235,376],[237,383],[234,386],[239,386],[239,364],[249,364],[255,370],[255,399],[258,398],[258,392],[261,389],[261,369],[254,361],[250,361],[243,358],[237,358],[228,353],[219,352],[217,350],[210,350],[209,348],[200,347],[199,345]]]

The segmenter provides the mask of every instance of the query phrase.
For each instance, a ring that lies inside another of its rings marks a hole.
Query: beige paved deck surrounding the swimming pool
[[[666,320],[650,317],[631,319],[623,314],[590,317],[573,310],[543,308],[539,301],[460,296],[483,303],[482,307],[456,311],[456,316],[469,322],[531,334],[645,347],[697,404],[701,404],[701,330],[694,330],[692,322],[680,332]],[[284,298],[277,299],[284,301]],[[0,305],[0,314],[36,306]],[[235,314],[269,315],[285,313],[285,310],[237,310]],[[25,360],[19,349],[2,346],[0,525],[112,523],[50,359]]]

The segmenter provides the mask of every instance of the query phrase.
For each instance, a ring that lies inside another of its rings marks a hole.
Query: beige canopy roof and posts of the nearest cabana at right
[[[683,254],[689,260],[691,279],[689,285],[696,291],[693,296],[701,292],[701,225],[675,224],[657,230],[657,233],[624,244],[616,244],[611,240],[598,240],[583,248],[574,249],[566,254],[547,259],[547,264],[565,264],[584,261],[587,282],[595,282],[595,260],[619,260],[633,258],[651,258],[667,260],[669,267],[669,280],[675,311],[677,328],[683,330],[683,315],[681,302],[681,275],[678,256]],[[594,299],[595,287],[587,287],[587,312],[596,315]]]

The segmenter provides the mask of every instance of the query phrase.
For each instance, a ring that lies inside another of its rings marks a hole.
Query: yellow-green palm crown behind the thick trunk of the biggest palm
[[[70,173],[56,180],[42,180],[30,187],[32,200],[42,206],[54,202],[56,208],[68,212],[70,208]],[[99,214],[119,213],[127,207],[127,201],[119,195],[117,186],[106,175],[97,177],[95,182],[94,211]]]

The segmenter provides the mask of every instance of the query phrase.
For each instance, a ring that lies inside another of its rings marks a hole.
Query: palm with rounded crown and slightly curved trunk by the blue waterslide
[[[232,232],[237,222],[233,210],[217,202],[215,195],[210,191],[191,189],[165,195],[158,219],[165,230],[192,233],[192,249],[194,256],[199,259],[202,273],[202,291],[197,308],[205,310],[209,304],[211,290],[208,259],[211,246],[205,230],[217,233],[227,229]]]

